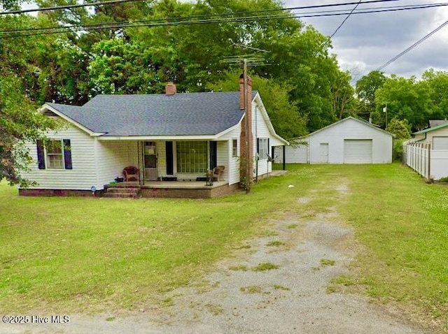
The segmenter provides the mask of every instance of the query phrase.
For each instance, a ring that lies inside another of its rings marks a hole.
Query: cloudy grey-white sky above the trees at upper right
[[[358,6],[357,9],[386,6],[409,6],[426,3],[442,3],[430,0],[397,0]],[[356,0],[283,0],[285,8],[316,6],[328,3],[353,3]],[[446,2],[445,2],[446,3]],[[337,8],[315,8],[305,11],[339,10],[348,12],[355,5]],[[321,34],[331,36],[346,16],[311,17],[301,20],[313,25]],[[392,59],[400,52],[429,34],[448,20],[448,6],[402,10],[388,13],[370,13],[351,15],[332,38],[333,53],[337,55],[339,66],[351,71],[353,79],[373,71]],[[386,75],[409,78],[421,77],[428,68],[448,71],[448,25],[430,38],[423,41],[405,55],[383,68]]]

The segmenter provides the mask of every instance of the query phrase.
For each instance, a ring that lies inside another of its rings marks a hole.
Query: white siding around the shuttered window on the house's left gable
[[[34,188],[90,190],[90,187],[94,185],[100,189],[94,167],[94,138],[74,126],[67,126],[66,129],[57,133],[48,133],[48,138],[70,139],[73,169],[38,169],[36,145],[29,143],[27,147],[33,158],[33,164],[29,166],[31,170],[28,173],[23,173],[23,176],[38,182],[38,186]]]

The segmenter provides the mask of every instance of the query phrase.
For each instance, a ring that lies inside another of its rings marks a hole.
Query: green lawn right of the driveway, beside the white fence
[[[364,249],[353,284],[448,331],[448,188],[395,164],[363,168],[350,180],[340,210]]]

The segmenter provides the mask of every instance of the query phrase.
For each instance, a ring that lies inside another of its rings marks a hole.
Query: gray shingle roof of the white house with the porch
[[[105,136],[216,135],[244,114],[239,92],[97,95],[81,107],[47,104]]]

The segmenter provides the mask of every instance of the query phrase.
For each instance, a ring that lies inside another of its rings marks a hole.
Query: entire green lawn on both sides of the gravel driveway
[[[335,210],[358,255],[351,274],[332,283],[448,331],[447,185],[399,164],[287,169],[249,195],[207,200],[29,198],[0,183],[0,313],[164,305],[165,292],[200,280],[248,238],[275,235],[269,219]]]

